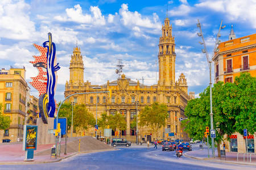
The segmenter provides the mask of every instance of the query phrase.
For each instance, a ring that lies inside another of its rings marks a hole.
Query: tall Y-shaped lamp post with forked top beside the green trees
[[[199,19],[198,20],[198,23],[196,24],[197,27],[200,28],[200,32],[197,33],[198,36],[202,37],[202,40],[203,42],[199,42],[201,45],[204,45],[204,49],[202,49],[202,52],[206,54],[206,57],[207,57],[207,61],[208,61],[208,66],[209,66],[209,73],[210,73],[210,129],[213,130],[214,127],[213,127],[213,113],[212,113],[212,58],[214,56],[214,53],[215,52],[218,52],[217,50],[217,45],[220,44],[220,41],[218,40],[218,38],[221,36],[220,35],[220,30],[225,28],[226,26],[224,25],[222,27],[222,20],[221,20],[221,24],[220,24],[220,28],[218,29],[218,33],[217,33],[217,39],[216,39],[216,42],[215,42],[215,45],[214,45],[214,49],[213,49],[213,55],[212,57],[210,58],[209,57],[209,54],[207,52],[207,48],[206,48],[206,45],[205,45],[205,41],[204,41],[204,36],[203,36],[203,32],[202,32],[202,29],[201,29],[201,24],[199,22]],[[215,152],[214,152],[214,138],[212,138],[212,156],[213,158],[215,158]]]

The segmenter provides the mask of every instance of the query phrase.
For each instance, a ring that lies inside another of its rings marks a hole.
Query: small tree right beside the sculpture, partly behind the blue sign
[[[60,105],[60,103],[59,103]],[[68,130],[71,129],[72,123],[72,105],[70,103],[63,103],[59,111],[59,117],[67,117]]]

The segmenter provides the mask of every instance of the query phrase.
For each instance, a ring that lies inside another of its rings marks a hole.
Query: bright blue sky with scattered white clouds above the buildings
[[[104,84],[115,80],[117,59],[129,78],[155,79],[155,61],[161,27],[166,18],[172,24],[176,43],[176,79],[184,73],[189,91],[198,95],[209,84],[209,69],[196,35],[200,20],[209,54],[221,19],[226,28],[221,40],[228,40],[231,24],[237,37],[255,33],[255,0],[201,1],[54,1],[1,0],[0,58],[1,68],[26,67],[26,80],[37,75],[32,67],[38,51],[32,43],[42,45],[51,32],[61,69],[56,100],[64,99],[64,84],[69,80],[69,61],[76,41],[84,60],[84,80]],[[147,85],[155,80],[145,80]],[[31,87],[32,95],[38,92]]]

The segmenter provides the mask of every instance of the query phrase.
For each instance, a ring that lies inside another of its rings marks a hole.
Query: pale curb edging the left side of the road
[[[58,158],[55,160],[39,160],[39,161],[34,161],[34,162],[0,162],[0,165],[22,165],[22,164],[45,164],[45,163],[55,163],[55,162],[60,162],[63,159],[70,158],[71,156],[75,156],[78,154],[89,154],[89,153],[96,153],[96,152],[104,152],[104,151],[115,151],[118,150],[116,148],[110,148],[110,149],[105,149],[105,150],[92,150],[92,151],[83,151],[83,152],[74,152],[70,155],[64,156],[62,158]]]

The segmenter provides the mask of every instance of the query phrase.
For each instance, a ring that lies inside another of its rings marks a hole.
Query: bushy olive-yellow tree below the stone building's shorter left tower
[[[73,126],[76,128],[88,129],[94,127],[96,120],[92,113],[86,109],[84,104],[76,105],[73,108]]]

